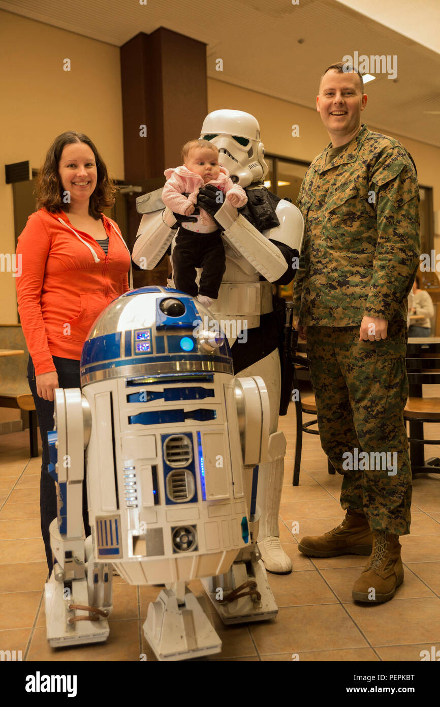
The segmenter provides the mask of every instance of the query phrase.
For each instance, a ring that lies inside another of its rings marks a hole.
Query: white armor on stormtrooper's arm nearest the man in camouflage
[[[285,243],[300,252],[304,221],[301,212],[289,201],[278,202],[276,214],[280,226],[260,233],[249,221],[238,214],[237,209],[225,201],[215,214],[215,219],[225,229],[223,238],[235,251],[246,260],[269,282],[275,282],[283,276],[288,264],[274,243],[269,238]]]

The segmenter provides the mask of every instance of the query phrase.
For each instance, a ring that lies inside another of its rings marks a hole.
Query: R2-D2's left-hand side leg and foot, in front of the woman
[[[111,566],[95,566],[83,527],[84,448],[88,416],[79,388],[55,391],[49,473],[57,481],[57,518],[50,524],[56,557],[44,586],[47,640],[53,648],[105,641],[112,611]],[[90,541],[90,539],[88,539]]]

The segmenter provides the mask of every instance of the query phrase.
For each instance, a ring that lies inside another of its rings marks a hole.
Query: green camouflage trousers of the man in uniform
[[[359,341],[359,326],[307,327],[321,445],[344,477],[340,504],[398,535],[411,522],[407,339],[406,322],[388,322],[381,341]]]

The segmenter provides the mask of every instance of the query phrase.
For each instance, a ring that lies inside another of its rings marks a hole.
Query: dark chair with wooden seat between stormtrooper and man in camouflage
[[[294,374],[293,374],[293,387],[294,390],[298,392],[298,399],[295,399],[295,412],[297,415],[297,444],[295,447],[295,464],[293,467],[293,479],[292,486],[298,486],[299,484],[299,467],[301,466],[301,453],[302,453],[302,433],[306,432],[310,435],[319,435],[319,430],[311,430],[310,427],[318,423],[318,419],[309,420],[308,422],[303,422],[302,414],[305,412],[309,415],[317,415],[315,396],[313,393],[308,393],[302,396],[299,391],[298,382],[300,380],[310,382],[310,371],[309,371],[309,359],[306,355],[306,344],[297,344],[296,346],[297,355],[293,359],[294,362]],[[335,469],[333,464],[328,459],[328,473],[335,474]]]

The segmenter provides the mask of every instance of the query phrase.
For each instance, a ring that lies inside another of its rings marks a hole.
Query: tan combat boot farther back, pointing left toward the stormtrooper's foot
[[[343,522],[323,535],[303,537],[299,551],[310,557],[335,557],[336,555],[369,555],[373,533],[367,518],[349,508]]]

